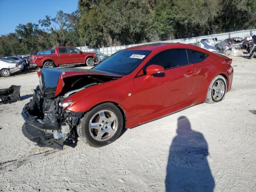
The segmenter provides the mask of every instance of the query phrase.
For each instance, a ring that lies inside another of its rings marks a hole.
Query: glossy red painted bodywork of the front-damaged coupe
[[[209,56],[202,62],[166,69],[164,73],[153,74],[154,71],[162,70],[161,66],[156,64],[146,70],[147,75],[143,75],[142,68],[153,56],[173,48],[198,50]],[[71,95],[63,101],[73,100],[67,109],[74,112],[87,112],[100,103],[113,102],[122,107],[126,114],[126,127],[131,128],[194,104],[205,102],[210,82],[219,74],[227,79],[227,92],[231,89],[233,68],[230,64],[232,60],[226,56],[180,43],[145,45],[129,49],[151,50],[151,53],[131,74]],[[146,78],[150,73],[152,74],[150,78]],[[62,77],[76,74],[79,73],[67,72]]]

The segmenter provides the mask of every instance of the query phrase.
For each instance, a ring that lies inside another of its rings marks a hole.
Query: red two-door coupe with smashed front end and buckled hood
[[[23,108],[24,125],[30,133],[41,131],[32,139],[41,146],[63,146],[77,136],[104,146],[123,128],[220,102],[231,89],[231,62],[189,44],[164,43],[120,50],[92,69],[43,68]]]

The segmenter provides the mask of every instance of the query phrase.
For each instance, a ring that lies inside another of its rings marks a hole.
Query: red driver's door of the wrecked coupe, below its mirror
[[[152,80],[145,77],[134,78],[140,117],[186,101],[196,82],[192,64],[164,70],[164,74],[156,74]]]

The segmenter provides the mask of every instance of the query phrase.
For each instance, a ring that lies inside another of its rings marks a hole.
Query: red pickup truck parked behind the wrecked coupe
[[[52,68],[58,65],[86,64],[94,66],[96,54],[93,52],[82,52],[75,47],[54,47],[51,54],[30,55],[30,66]]]

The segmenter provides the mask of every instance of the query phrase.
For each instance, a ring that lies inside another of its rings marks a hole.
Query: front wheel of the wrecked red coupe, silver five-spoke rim
[[[77,133],[85,143],[91,146],[104,146],[120,136],[123,122],[119,108],[112,103],[104,103],[81,118]]]

